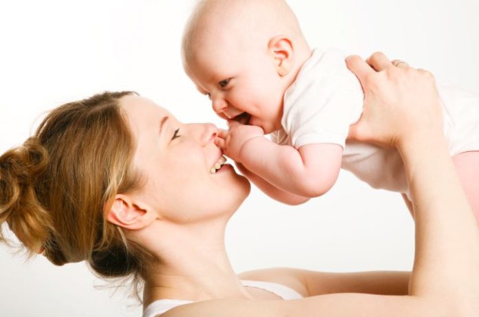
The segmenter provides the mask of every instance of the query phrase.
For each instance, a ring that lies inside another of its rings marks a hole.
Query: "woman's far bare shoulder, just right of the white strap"
[[[289,267],[273,267],[263,270],[248,271],[238,276],[242,280],[272,282],[285,285],[306,297],[309,296],[304,270]]]

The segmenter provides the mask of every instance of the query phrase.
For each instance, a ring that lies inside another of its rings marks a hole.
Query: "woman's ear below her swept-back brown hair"
[[[109,222],[128,230],[145,228],[157,219],[151,208],[136,203],[128,195],[116,195],[113,204],[106,211]]]

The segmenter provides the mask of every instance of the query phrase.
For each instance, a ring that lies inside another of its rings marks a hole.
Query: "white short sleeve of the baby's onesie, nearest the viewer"
[[[363,90],[346,67],[345,54],[315,50],[286,91],[281,125],[296,149],[314,143],[344,149],[349,127],[362,111]]]

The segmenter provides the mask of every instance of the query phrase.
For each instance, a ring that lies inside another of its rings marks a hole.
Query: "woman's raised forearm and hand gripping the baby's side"
[[[403,158],[416,219],[409,294],[458,300],[479,316],[479,230],[449,155],[434,78],[383,54],[370,63],[380,72],[348,60],[365,88],[363,118],[350,135],[395,146]]]

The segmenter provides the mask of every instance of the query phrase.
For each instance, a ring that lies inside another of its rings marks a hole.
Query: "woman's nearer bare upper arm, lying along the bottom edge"
[[[458,314],[453,305],[434,298],[330,294],[301,300],[251,300],[226,298],[181,305],[162,317],[475,317]]]

